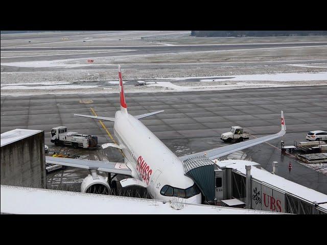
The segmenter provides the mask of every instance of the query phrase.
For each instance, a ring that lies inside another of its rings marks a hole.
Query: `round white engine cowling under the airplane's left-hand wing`
[[[94,194],[110,194],[110,186],[108,184],[108,177],[104,178],[100,175],[92,173],[88,175],[82,182],[82,193],[94,193]]]

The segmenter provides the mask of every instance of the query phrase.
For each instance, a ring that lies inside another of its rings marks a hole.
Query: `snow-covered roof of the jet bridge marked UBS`
[[[219,165],[225,165],[227,168],[233,168],[240,173],[246,175],[245,165],[255,165],[254,162],[245,160],[224,160],[216,163]],[[256,163],[258,164],[258,163]],[[305,199],[311,203],[324,203],[327,202],[327,195],[308,187],[296,184],[292,181],[286,180],[283,177],[273,175],[265,169],[259,169],[257,167],[251,168],[251,178],[262,183],[267,183],[275,188],[296,195],[301,199]]]

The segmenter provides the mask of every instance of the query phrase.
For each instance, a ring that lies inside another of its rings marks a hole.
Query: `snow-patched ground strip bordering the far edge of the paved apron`
[[[143,79],[146,80],[146,79]],[[205,91],[243,88],[327,85],[327,72],[237,75],[232,77],[153,78],[146,86],[125,85],[128,92]],[[157,82],[154,82],[157,81]],[[118,81],[88,81],[2,84],[3,94],[118,93]],[[126,82],[126,81],[125,81]],[[95,84],[96,83],[96,84]],[[94,85],[92,85],[94,84]],[[34,86],[33,86],[34,85]],[[108,87],[109,86],[109,87]]]

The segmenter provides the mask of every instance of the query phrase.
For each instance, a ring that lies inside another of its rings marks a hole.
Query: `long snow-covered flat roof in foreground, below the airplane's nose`
[[[0,194],[1,213],[13,214],[277,214],[196,204],[177,210],[170,202],[158,200],[6,185],[1,185]]]

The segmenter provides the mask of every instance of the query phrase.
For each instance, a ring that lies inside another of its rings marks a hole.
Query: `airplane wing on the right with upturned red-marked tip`
[[[190,154],[190,155],[186,155],[186,156],[181,156],[179,157],[180,160],[184,161],[186,159],[192,158],[192,157],[197,157],[197,156],[203,156],[205,155],[207,158],[214,160],[218,157],[222,157],[222,156],[226,156],[228,154],[231,154],[233,152],[237,152],[246,148],[249,148],[250,146],[256,145],[256,144],[260,144],[263,142],[266,142],[268,140],[272,140],[278,137],[282,137],[285,133],[286,133],[286,126],[285,126],[285,119],[284,119],[284,113],[283,111],[281,112],[281,131],[279,131],[276,134],[272,134],[272,135],[267,135],[267,136],[263,136],[260,138],[256,138],[256,139],[251,139],[251,140],[247,140],[247,141],[243,141],[240,143],[236,143],[236,144],[231,144],[231,145],[226,145],[220,148],[215,148],[212,150],[208,150],[208,151],[204,151],[204,152],[199,152],[199,153],[194,153],[194,154]]]

